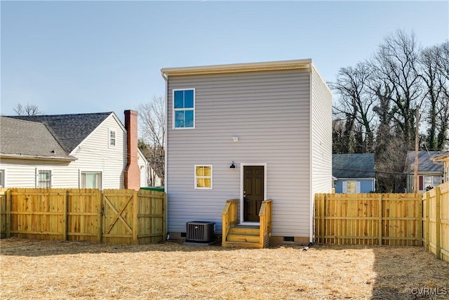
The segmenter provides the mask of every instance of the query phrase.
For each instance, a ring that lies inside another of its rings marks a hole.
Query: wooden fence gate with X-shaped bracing
[[[138,244],[137,199],[134,190],[103,190],[103,242]]]

